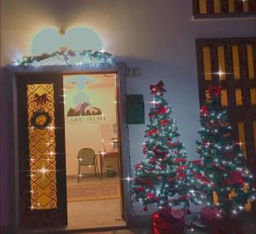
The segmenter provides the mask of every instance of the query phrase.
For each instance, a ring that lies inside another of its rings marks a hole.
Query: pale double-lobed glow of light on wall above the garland
[[[61,35],[55,28],[39,31],[32,40],[31,54],[53,53],[66,47],[73,50],[93,49],[101,51],[103,43],[95,31],[85,27],[74,27]]]

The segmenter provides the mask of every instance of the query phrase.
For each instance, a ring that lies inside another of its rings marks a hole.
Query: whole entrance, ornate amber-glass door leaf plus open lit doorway
[[[18,226],[126,225],[117,73],[24,72],[15,82]],[[94,152],[95,164],[80,162],[84,148]]]

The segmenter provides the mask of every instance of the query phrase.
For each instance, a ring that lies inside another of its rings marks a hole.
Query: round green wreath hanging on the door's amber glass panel
[[[36,111],[33,113],[30,123],[34,128],[44,129],[51,123],[51,120],[48,112]]]

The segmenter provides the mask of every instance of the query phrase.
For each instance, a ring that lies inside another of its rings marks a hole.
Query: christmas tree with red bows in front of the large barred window
[[[201,141],[197,141],[207,180],[203,187],[207,205],[218,207],[225,215],[244,209],[247,200],[253,200],[253,175],[247,169],[240,142],[233,140],[227,112],[221,106],[221,87],[210,85],[207,101],[201,107]]]

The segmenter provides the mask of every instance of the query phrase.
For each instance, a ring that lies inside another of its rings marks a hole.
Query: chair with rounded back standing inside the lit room
[[[95,170],[95,175],[99,180],[101,180],[101,176],[99,173],[99,168],[98,168],[98,157],[95,154],[95,151],[93,151],[90,148],[83,148],[81,150],[79,150],[79,155],[78,155],[78,159],[79,159],[79,176],[78,176],[78,182],[80,182],[80,171],[81,171],[81,166],[84,167],[91,167],[94,166],[94,170]]]

